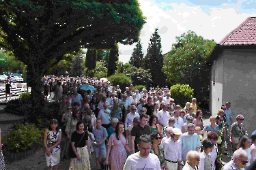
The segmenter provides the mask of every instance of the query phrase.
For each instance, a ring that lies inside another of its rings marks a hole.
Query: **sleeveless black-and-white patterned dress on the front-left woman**
[[[59,139],[59,133],[61,133],[61,129],[59,131],[53,132],[48,130],[48,136],[47,136],[47,147],[51,147],[57,143]],[[55,165],[59,164],[60,160],[60,155],[61,155],[61,146],[58,145],[53,150],[51,150],[51,155],[47,156],[45,153],[46,157],[46,165],[47,167],[53,167]]]

